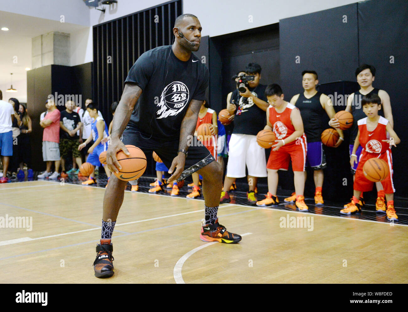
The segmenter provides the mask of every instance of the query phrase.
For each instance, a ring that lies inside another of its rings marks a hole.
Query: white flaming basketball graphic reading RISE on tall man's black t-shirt
[[[173,81],[164,88],[157,104],[159,110],[156,112],[157,119],[177,115],[187,105],[189,91],[181,81]]]

